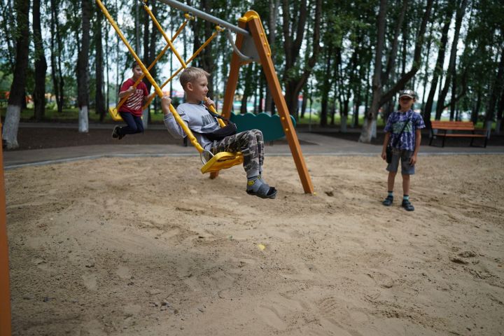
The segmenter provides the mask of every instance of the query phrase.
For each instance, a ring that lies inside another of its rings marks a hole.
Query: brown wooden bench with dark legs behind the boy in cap
[[[471,138],[469,146],[472,146],[472,141],[475,138],[484,139],[484,148],[486,148],[486,132],[485,134],[475,134],[475,127],[472,121],[438,121],[433,120],[430,128],[430,142],[432,146],[433,139],[436,137],[442,138],[442,147],[444,147],[444,140],[446,138]],[[437,132],[434,132],[437,130]],[[443,132],[444,131],[444,132]],[[447,133],[447,131],[452,131]]]

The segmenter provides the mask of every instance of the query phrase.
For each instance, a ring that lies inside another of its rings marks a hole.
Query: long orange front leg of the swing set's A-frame
[[[262,70],[266,75],[266,81],[269,90],[272,93],[276,109],[280,115],[283,131],[286,134],[286,138],[290,147],[290,153],[292,153],[293,155],[294,162],[297,167],[297,173],[300,176],[304,193],[313,194],[314,187],[311,183],[311,178],[308,174],[308,168],[302,156],[299,139],[297,139],[297,134],[295,132],[293,123],[290,120],[290,114],[287,109],[285,98],[283,97],[281,91],[279,79],[276,76],[271,51],[269,49],[265,31],[262,28],[259,15],[255,11],[250,10],[244,16],[248,23],[248,29],[252,34],[255,48],[257,48],[258,50]]]

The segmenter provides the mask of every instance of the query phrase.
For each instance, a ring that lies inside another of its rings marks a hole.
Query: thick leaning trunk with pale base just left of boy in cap
[[[373,128],[376,125],[378,109],[380,107],[379,101],[381,99],[381,92],[383,91],[383,87],[381,87],[381,57],[383,54],[385,41],[386,4],[386,0],[380,0],[377,21],[377,46],[374,56],[374,75],[372,79],[372,102],[370,110],[369,112],[367,112],[364,118],[364,125],[359,137],[359,142],[364,142],[367,144],[369,144],[372,139]]]

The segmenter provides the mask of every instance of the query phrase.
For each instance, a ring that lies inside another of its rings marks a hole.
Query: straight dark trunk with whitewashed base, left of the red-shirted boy
[[[90,50],[90,0],[82,0],[82,38],[77,57],[77,100],[79,132],[89,132],[89,50]]]

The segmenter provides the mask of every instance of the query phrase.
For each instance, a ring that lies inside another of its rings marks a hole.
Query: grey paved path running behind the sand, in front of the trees
[[[61,124],[58,125],[62,127]],[[110,127],[110,125],[105,125]],[[29,126],[26,126],[29,127]],[[75,127],[71,125],[71,127]],[[102,127],[90,125],[90,127]],[[163,127],[153,125],[151,127]],[[302,145],[303,155],[379,155],[380,145],[360,144],[328,137],[321,134],[299,132],[297,134]],[[266,145],[266,155],[290,155],[287,144]],[[504,146],[477,147],[432,147],[422,146],[419,155],[504,155]],[[192,156],[198,155],[193,146],[181,145],[93,145],[62,148],[33,149],[29,151],[4,151],[3,165],[6,169],[24,167],[26,165],[44,165],[72,160],[89,160],[105,157],[148,157],[148,156]]]

